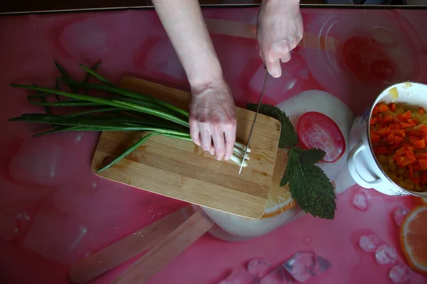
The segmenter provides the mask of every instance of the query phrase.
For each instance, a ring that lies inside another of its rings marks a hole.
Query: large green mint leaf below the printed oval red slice
[[[313,163],[319,157],[320,152],[315,149],[303,151],[292,147],[280,186],[289,184],[292,198],[305,212],[314,217],[334,219],[337,197],[327,175]]]

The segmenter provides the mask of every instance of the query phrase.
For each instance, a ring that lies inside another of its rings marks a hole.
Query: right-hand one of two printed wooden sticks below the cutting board
[[[195,212],[110,284],[146,283],[212,226],[203,213]]]

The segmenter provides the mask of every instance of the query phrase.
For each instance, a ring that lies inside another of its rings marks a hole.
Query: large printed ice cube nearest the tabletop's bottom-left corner
[[[85,225],[64,212],[41,212],[34,219],[23,245],[53,261],[71,264],[80,256],[78,246],[87,232]]]

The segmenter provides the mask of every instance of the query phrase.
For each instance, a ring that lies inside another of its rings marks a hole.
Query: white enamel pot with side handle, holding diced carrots
[[[364,188],[373,188],[385,195],[416,195],[427,197],[427,192],[406,190],[397,185],[382,170],[374,155],[369,133],[369,122],[374,106],[384,102],[389,104],[407,104],[413,107],[427,109],[427,85],[416,82],[401,82],[384,89],[376,97],[375,102],[359,114],[354,120],[349,138],[349,155],[347,166],[352,178],[358,185]]]

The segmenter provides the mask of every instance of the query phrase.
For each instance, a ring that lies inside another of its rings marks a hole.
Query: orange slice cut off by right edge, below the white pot
[[[427,275],[427,205],[415,207],[406,215],[400,242],[409,266]]]

